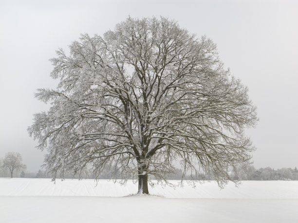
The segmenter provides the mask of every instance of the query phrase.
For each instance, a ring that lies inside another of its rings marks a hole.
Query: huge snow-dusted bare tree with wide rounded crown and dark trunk
[[[81,35],[51,61],[60,83],[38,89],[52,107],[28,131],[47,149],[54,179],[86,169],[99,176],[110,165],[149,193],[150,175],[166,181],[178,161],[185,174],[212,173],[222,187],[228,169],[251,158],[243,130],[257,117],[247,87],[210,39],[175,21],[129,17],[103,36]]]

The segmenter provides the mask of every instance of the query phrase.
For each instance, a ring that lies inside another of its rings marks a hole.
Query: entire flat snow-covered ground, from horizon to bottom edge
[[[179,181],[170,181],[177,184]],[[225,189],[149,188],[112,181],[0,178],[1,223],[298,223],[298,181],[242,181]],[[154,196],[156,195],[156,196]]]

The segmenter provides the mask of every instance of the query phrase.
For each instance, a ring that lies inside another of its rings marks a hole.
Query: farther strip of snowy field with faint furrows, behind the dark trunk
[[[179,181],[171,180],[173,184]],[[30,178],[0,178],[0,196],[100,196],[122,197],[137,192],[137,184],[126,185],[99,180],[56,180]],[[221,199],[298,199],[298,181],[242,181],[235,187],[229,183],[220,189],[216,182],[198,184],[196,188],[185,184],[183,188],[149,186],[149,193],[166,198],[221,198]]]

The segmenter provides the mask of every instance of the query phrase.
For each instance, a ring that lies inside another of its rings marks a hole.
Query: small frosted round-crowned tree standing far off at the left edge
[[[22,164],[22,156],[16,152],[9,152],[5,154],[2,167],[10,171],[10,176],[13,178],[14,171],[26,169],[26,165]]]

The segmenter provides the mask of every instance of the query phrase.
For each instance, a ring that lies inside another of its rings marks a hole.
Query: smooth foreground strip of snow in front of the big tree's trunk
[[[1,223],[297,223],[296,199],[0,196]]]

